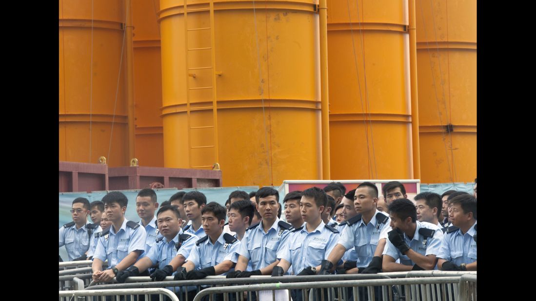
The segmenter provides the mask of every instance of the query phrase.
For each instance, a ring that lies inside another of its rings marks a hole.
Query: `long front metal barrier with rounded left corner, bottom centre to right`
[[[324,297],[324,294],[318,297],[318,294],[308,291],[308,289],[338,289],[339,301],[348,300],[345,296],[345,291],[343,288],[352,288],[353,291],[353,300],[361,301],[366,300],[397,300],[396,292],[392,288],[392,285],[403,285],[407,294],[405,297],[406,301],[428,301],[428,300],[447,300],[446,295],[430,296],[429,294],[423,295],[419,291],[419,285],[429,285],[429,284],[458,284],[460,282],[460,277],[420,277],[420,278],[403,278],[403,279],[375,279],[375,280],[345,280],[345,281],[318,281],[318,282],[297,282],[297,283],[269,283],[269,284],[251,284],[251,285],[237,285],[232,287],[213,287],[207,288],[200,291],[193,301],[200,301],[204,296],[209,296],[212,300],[217,298],[218,294],[224,294],[224,299],[227,299],[228,294],[236,294],[237,300],[243,300],[240,298],[242,292],[248,291],[271,291],[273,300],[290,300],[291,291],[290,290],[301,290],[300,293],[303,296],[302,300],[333,300],[333,295]],[[377,291],[374,287],[380,287],[381,293],[379,296],[376,296]],[[363,288],[367,288],[366,292]],[[288,299],[282,299],[281,295],[278,295],[276,299],[276,291],[279,290],[289,290]],[[366,296],[363,297],[363,292]],[[433,294],[432,294],[433,295]],[[312,297],[311,297],[312,296]],[[448,300],[455,300],[450,297]]]

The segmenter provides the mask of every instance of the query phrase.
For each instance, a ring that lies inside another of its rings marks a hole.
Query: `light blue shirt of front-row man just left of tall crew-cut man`
[[[294,274],[298,274],[306,267],[320,265],[337,245],[338,239],[338,231],[327,229],[323,221],[312,232],[307,232],[307,223],[303,223],[302,228],[291,231],[284,244],[279,247],[277,259],[290,262]]]

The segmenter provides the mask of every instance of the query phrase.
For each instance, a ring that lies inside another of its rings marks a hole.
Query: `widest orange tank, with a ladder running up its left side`
[[[314,3],[161,1],[165,167],[219,163],[224,186],[321,178]]]

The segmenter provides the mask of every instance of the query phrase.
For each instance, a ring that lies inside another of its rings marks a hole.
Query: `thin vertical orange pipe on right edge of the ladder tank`
[[[322,100],[322,179],[330,179],[330,112],[329,89],[327,81],[327,5],[320,0],[318,5],[320,18],[320,84]]]

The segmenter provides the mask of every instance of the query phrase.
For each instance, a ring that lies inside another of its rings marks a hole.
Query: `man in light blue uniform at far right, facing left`
[[[465,193],[450,200],[450,226],[437,267],[442,270],[477,270],[477,199]]]

